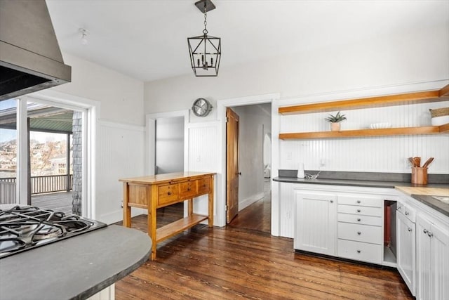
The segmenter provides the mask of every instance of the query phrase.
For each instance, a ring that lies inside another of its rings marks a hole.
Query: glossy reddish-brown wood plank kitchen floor
[[[158,210],[158,226],[180,216],[182,205]],[[146,216],[132,225],[146,232]],[[297,254],[291,239],[236,224],[195,226],[157,255],[116,282],[117,300],[413,299],[396,270]]]

